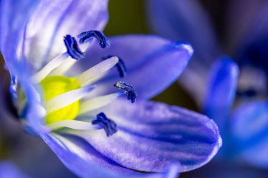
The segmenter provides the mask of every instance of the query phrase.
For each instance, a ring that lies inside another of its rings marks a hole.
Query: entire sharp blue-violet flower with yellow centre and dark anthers
[[[107,4],[1,1],[0,49],[20,122],[80,177],[176,177],[204,165],[221,147],[217,125],[146,101],[177,79],[192,47],[150,35],[108,40]]]

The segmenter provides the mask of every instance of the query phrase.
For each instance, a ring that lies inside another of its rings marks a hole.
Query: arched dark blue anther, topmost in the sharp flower
[[[103,49],[110,45],[109,40],[105,37],[105,35],[97,30],[82,32],[78,34],[78,38],[80,44],[83,44],[90,41],[90,39],[95,38],[97,39],[99,46],[101,46]]]

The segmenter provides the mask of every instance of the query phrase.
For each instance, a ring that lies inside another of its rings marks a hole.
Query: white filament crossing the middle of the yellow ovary
[[[87,94],[95,89],[95,86],[84,87],[81,89],[74,89],[72,91],[68,91],[64,94],[55,96],[54,98],[45,101],[44,106],[47,110],[47,114],[52,113],[56,110],[64,108],[75,101],[80,100],[81,98],[87,96]]]

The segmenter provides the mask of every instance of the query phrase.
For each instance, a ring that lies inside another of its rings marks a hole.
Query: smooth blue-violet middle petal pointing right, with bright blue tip
[[[169,87],[183,72],[193,54],[190,44],[171,42],[156,36],[126,35],[109,40],[111,46],[108,49],[92,45],[85,60],[78,62],[78,66],[85,70],[109,55],[122,58],[127,68],[126,77],[120,79],[118,72],[113,72],[99,87],[112,92],[113,84],[123,80],[135,87],[139,98],[151,98]]]

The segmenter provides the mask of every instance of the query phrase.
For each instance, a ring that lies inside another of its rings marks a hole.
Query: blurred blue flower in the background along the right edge
[[[222,21],[214,13],[209,17],[195,0],[150,1],[148,8],[158,34],[193,44],[195,56],[179,82],[219,125],[224,154],[267,167],[268,4],[244,3],[233,1],[227,8],[219,6],[223,11],[214,9],[226,13]],[[224,42],[217,39],[213,18],[221,23]],[[230,53],[236,62],[219,57],[222,53]]]

